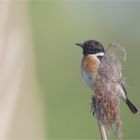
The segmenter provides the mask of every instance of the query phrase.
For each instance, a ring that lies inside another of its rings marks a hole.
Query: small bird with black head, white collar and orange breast
[[[86,40],[83,43],[75,43],[82,48],[83,58],[81,60],[81,75],[87,86],[94,91],[96,76],[101,64],[101,60],[105,55],[104,46],[97,40]],[[103,85],[104,86],[104,85]],[[115,87],[118,89],[118,96],[123,99],[128,108],[133,114],[138,112],[138,109],[129,100],[127,91],[123,82],[116,82]]]

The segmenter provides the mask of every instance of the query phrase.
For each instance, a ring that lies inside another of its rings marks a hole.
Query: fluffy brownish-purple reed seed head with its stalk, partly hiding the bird
[[[108,48],[109,50],[109,48]],[[117,83],[124,83],[121,75],[121,63],[117,57],[107,51],[101,60],[95,80],[95,95],[92,97],[92,110],[98,121],[101,140],[107,140],[106,131],[115,126],[116,135],[121,136],[120,98]]]

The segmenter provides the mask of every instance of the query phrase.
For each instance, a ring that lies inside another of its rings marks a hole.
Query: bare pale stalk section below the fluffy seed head
[[[98,127],[99,127],[101,140],[107,140],[105,126],[99,120],[97,120],[97,122],[98,122]]]

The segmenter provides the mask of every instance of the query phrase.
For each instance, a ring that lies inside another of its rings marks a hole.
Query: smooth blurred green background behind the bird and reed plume
[[[36,69],[44,96],[48,139],[98,139],[90,113],[91,91],[80,74],[82,51],[74,45],[96,39],[121,44],[129,98],[140,108],[140,2],[30,1]],[[140,116],[121,102],[123,138],[140,139]],[[111,134],[111,138],[115,138]]]

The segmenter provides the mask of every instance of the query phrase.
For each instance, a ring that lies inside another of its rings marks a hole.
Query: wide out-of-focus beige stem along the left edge
[[[0,139],[44,139],[28,2],[0,0]]]

